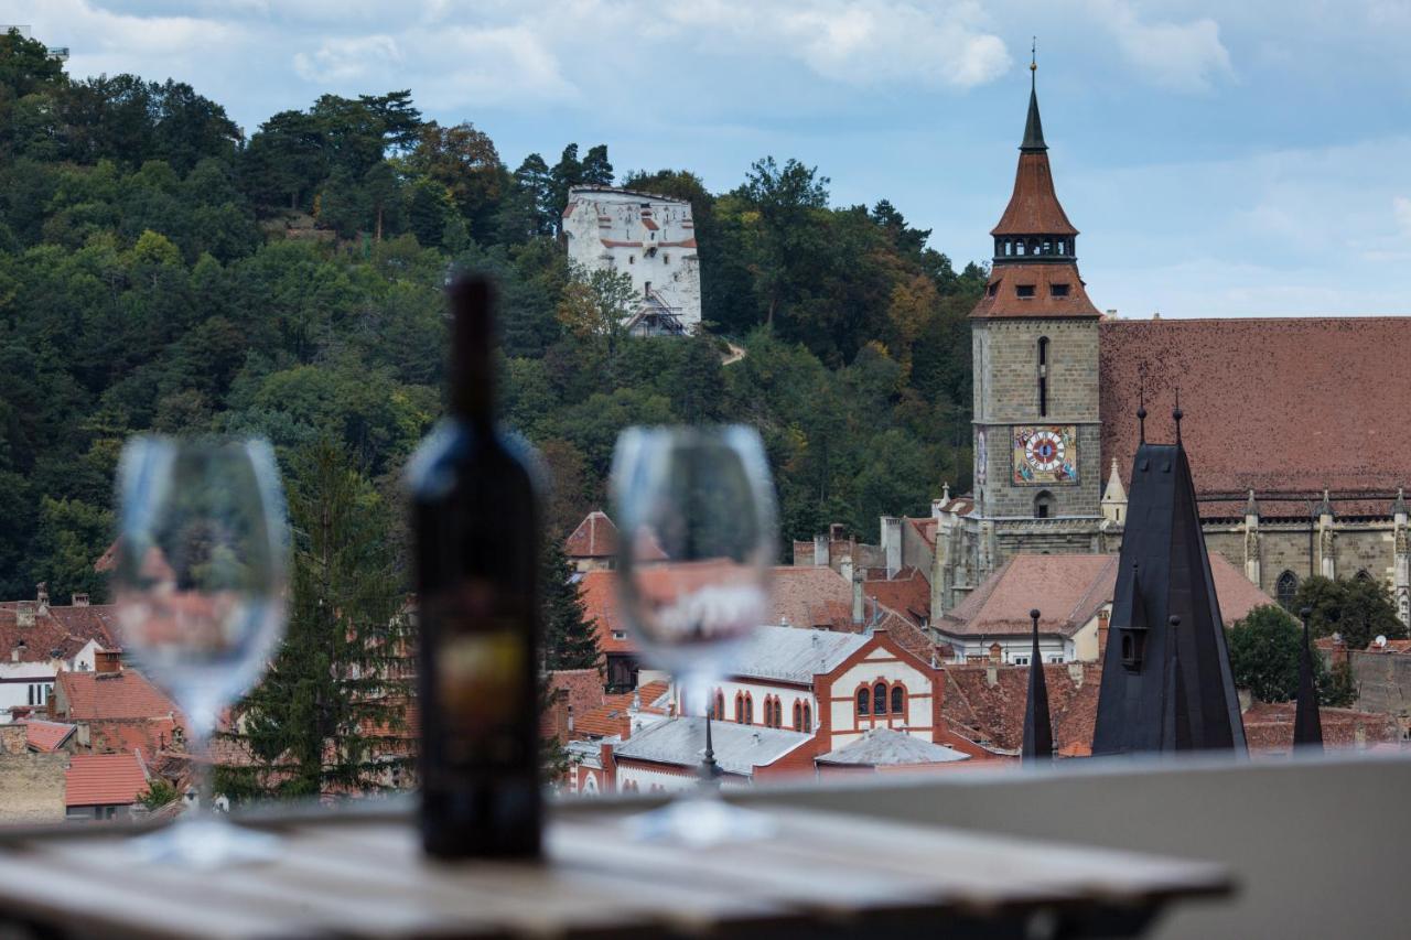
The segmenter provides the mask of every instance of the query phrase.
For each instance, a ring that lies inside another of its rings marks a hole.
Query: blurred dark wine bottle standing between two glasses
[[[492,292],[450,289],[450,414],[408,480],[419,594],[422,844],[443,858],[535,857],[539,510],[494,421]]]

